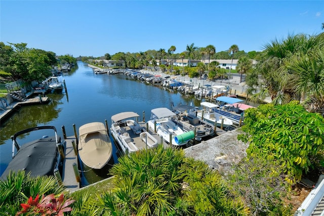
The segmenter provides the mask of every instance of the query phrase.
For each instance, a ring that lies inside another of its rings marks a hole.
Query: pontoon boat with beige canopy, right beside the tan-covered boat
[[[123,112],[111,117],[110,131],[124,154],[154,148],[157,139],[138,124],[139,115]]]

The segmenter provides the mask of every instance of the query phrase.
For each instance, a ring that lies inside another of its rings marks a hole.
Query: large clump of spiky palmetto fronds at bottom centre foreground
[[[99,205],[110,215],[246,215],[221,176],[182,150],[143,150],[119,158],[111,169],[115,188]]]

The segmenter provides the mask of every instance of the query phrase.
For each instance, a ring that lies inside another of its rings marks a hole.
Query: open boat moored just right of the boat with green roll
[[[177,119],[173,120],[185,132],[195,131],[195,139],[214,135],[214,125],[196,117],[196,109],[190,105],[177,105],[173,108]]]

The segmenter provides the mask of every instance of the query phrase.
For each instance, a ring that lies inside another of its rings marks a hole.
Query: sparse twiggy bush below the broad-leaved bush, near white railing
[[[253,215],[292,215],[286,203],[291,185],[282,176],[279,161],[250,157],[234,167],[228,180],[231,193],[245,200]]]

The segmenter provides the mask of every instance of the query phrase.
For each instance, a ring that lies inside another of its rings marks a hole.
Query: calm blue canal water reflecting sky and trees
[[[125,75],[94,75],[88,64],[78,62],[69,75],[62,77],[67,92],[48,94],[52,102],[46,105],[22,107],[17,113],[2,122],[0,133],[0,175],[12,159],[11,135],[15,132],[35,126],[53,125],[61,137],[62,125],[67,136],[74,135],[73,124],[78,128],[89,122],[111,124],[114,114],[132,111],[150,118],[150,111],[157,107],[171,108],[174,104],[190,104],[199,106],[200,101],[190,97],[182,97],[180,93],[169,92],[158,86],[147,85]],[[45,134],[32,133],[22,137],[20,143],[37,139]],[[52,135],[52,134],[49,134]],[[115,159],[115,158],[114,158]],[[92,180],[90,180],[92,182]]]

